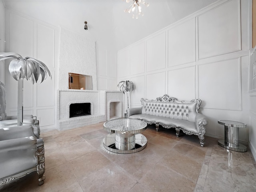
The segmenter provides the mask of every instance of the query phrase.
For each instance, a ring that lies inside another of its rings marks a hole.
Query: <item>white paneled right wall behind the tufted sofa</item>
[[[220,0],[118,51],[118,81],[136,86],[132,107],[164,94],[200,98],[206,135],[224,137],[221,119],[249,125],[249,10],[248,1]],[[240,129],[245,144],[249,129]]]

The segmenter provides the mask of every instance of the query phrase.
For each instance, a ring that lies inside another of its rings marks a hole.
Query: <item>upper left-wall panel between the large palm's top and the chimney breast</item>
[[[54,29],[37,24],[37,59],[54,68]]]

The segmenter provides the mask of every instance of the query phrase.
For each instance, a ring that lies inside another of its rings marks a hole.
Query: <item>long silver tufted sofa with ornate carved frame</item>
[[[159,125],[164,128],[175,128],[176,136],[182,130],[185,134],[197,135],[200,144],[204,146],[206,117],[198,112],[201,104],[200,99],[178,101],[174,97],[164,95],[156,100],[141,98],[142,107],[128,108],[126,110],[128,118],[140,119],[147,124],[156,124],[156,131]]]

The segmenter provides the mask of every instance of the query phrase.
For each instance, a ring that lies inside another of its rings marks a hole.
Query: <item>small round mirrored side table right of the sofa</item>
[[[239,128],[246,128],[246,124],[229,120],[219,120],[218,124],[224,125],[224,140],[218,140],[218,145],[232,151],[247,151],[246,146],[239,144]]]

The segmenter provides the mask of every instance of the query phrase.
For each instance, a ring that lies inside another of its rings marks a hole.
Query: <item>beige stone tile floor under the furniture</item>
[[[148,145],[134,154],[103,147],[103,123],[43,132],[46,179],[32,173],[0,188],[2,192],[255,192],[256,163],[250,151],[234,152],[206,137],[148,126]]]

